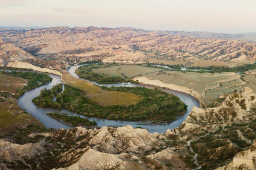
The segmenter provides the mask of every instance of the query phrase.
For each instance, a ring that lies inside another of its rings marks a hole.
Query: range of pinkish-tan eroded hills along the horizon
[[[228,40],[213,32],[148,31],[135,28],[55,27],[0,29],[0,41],[42,59],[79,63],[145,63],[154,61],[254,61],[256,44]],[[8,55],[1,58],[8,58]],[[6,62],[6,59],[5,59]],[[8,62],[8,61],[7,61]]]

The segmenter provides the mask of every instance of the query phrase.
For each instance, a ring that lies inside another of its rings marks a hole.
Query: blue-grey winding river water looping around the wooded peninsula
[[[79,78],[76,73],[75,70],[77,67],[79,67],[80,65],[77,66],[72,66],[70,67],[70,69],[68,69],[67,71],[73,75],[76,78]],[[52,108],[41,108],[38,106],[35,106],[32,103],[32,99],[37,97],[40,94],[40,91],[43,88],[46,89],[51,89],[55,84],[58,83],[62,83],[61,82],[61,78],[59,75],[54,75],[54,74],[49,74],[53,80],[48,83],[45,84],[44,86],[41,86],[39,88],[36,88],[34,90],[30,90],[27,91],[23,96],[20,97],[18,103],[20,105],[21,108],[26,109],[26,111],[28,113],[31,113],[34,117],[37,118],[38,121],[42,122],[43,125],[48,129],[48,128],[54,128],[54,129],[60,129],[60,128],[64,128],[64,129],[70,129],[70,127],[66,124],[63,124],[61,122],[56,121],[54,118],[46,115],[45,113],[48,112],[61,112],[61,113],[68,113],[70,115],[76,115],[76,116],[81,116],[84,118],[88,118],[90,121],[95,121],[97,122],[98,126],[103,127],[103,126],[126,126],[126,125],[131,125],[133,126],[133,128],[137,127],[137,126],[141,126],[144,129],[148,129],[148,131],[150,133],[154,133],[154,132],[158,132],[158,133],[163,133],[166,132],[167,129],[174,129],[177,128],[181,125],[181,123],[183,121],[186,120],[188,114],[190,113],[190,111],[193,109],[194,106],[199,107],[199,102],[196,98],[194,98],[193,96],[190,96],[188,94],[185,94],[183,92],[179,92],[179,91],[175,91],[175,90],[170,90],[170,89],[163,89],[166,92],[170,92],[176,96],[178,96],[185,104],[188,105],[188,110],[185,114],[183,115],[179,115],[178,116],[178,120],[174,121],[170,124],[165,124],[165,125],[149,125],[148,122],[130,122],[130,121],[111,121],[111,120],[106,120],[103,118],[95,118],[95,117],[86,117],[83,115],[79,115],[73,112],[69,112],[66,109],[63,110],[58,110],[58,109],[52,109]],[[79,78],[82,79],[82,78]],[[86,80],[87,81],[87,80]],[[93,81],[90,81],[93,82]],[[93,82],[95,84],[97,84],[96,82]],[[126,86],[126,87],[143,87],[145,86],[146,88],[151,88],[154,89],[154,86],[148,86],[148,85],[143,85],[143,84],[134,84],[134,83],[117,83],[117,84],[97,84],[98,86],[107,86],[107,87],[111,87],[111,86]]]

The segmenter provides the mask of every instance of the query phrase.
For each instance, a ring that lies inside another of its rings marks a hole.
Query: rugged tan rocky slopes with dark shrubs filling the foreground
[[[250,112],[256,95],[243,88],[221,98],[217,107],[194,107],[179,128],[162,134],[130,125],[52,130],[29,134],[31,140],[42,138],[37,143],[0,140],[0,159],[17,161],[37,155],[42,159],[34,163],[38,169],[207,169],[227,164],[219,169],[253,169],[256,142],[251,145],[250,139],[256,116]]]

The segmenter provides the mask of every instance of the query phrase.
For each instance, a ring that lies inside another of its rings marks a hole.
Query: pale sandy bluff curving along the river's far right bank
[[[136,78],[133,78],[133,80],[134,81],[138,80],[140,83],[148,84],[150,86],[167,88],[167,89],[170,89],[170,90],[184,92],[188,95],[191,95],[191,96],[195,97],[199,101],[199,104],[200,104],[201,108],[206,106],[203,102],[202,95],[199,94],[199,92],[197,92],[195,90],[192,90],[192,89],[189,89],[189,88],[186,88],[186,87],[182,87],[182,86],[178,86],[176,84],[171,84],[171,83],[167,84],[167,83],[164,83],[164,82],[162,82],[160,80],[157,80],[157,79],[149,80],[147,77],[136,77]]]

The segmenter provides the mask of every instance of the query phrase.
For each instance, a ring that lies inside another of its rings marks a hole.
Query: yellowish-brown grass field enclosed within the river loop
[[[95,84],[74,78],[67,71],[62,71],[62,80],[65,84],[70,86],[85,90],[86,96],[98,103],[99,105],[109,106],[109,105],[132,105],[137,104],[142,96],[135,95],[129,92],[121,92],[121,91],[106,91],[97,87]]]

